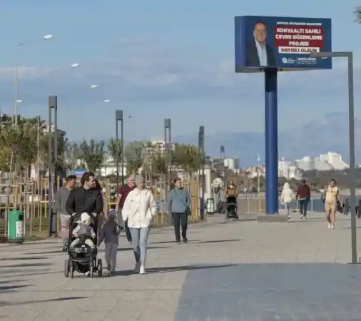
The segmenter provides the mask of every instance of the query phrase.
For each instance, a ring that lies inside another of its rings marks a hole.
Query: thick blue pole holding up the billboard
[[[265,213],[278,213],[277,68],[265,68]]]

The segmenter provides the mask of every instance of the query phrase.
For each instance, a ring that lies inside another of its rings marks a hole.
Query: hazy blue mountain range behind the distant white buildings
[[[292,131],[280,131],[278,135],[279,157],[294,160],[304,156],[319,156],[327,151],[340,153],[349,161],[349,127],[347,113],[328,113]],[[356,161],[361,161],[361,121],[355,119]],[[198,134],[178,136],[174,141],[195,143]],[[225,155],[238,157],[240,166],[255,165],[259,153],[264,163],[264,133],[213,133],[205,136],[205,150],[211,156],[220,155],[220,146],[225,146]]]

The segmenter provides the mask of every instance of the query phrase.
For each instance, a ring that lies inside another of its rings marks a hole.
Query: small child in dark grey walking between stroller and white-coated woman
[[[116,223],[116,210],[109,210],[108,220],[101,227],[98,238],[98,245],[103,241],[106,245],[106,267],[109,272],[114,272],[116,270],[116,254],[118,251],[118,236],[120,233],[121,228]]]

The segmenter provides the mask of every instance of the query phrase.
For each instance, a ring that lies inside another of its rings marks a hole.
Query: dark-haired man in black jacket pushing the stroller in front
[[[94,173],[86,172],[81,177],[81,187],[73,188],[66,201],[66,212],[72,216],[88,213],[97,225],[97,216],[103,211],[103,196],[101,190],[93,189]]]

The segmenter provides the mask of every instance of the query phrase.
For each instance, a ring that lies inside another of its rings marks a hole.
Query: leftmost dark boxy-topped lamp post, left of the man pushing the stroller
[[[53,126],[52,126],[52,113],[54,109],[54,142],[53,142]],[[57,221],[56,213],[53,211],[53,200],[54,200],[54,183],[57,178],[57,157],[58,157],[58,97],[49,96],[49,126],[48,126],[48,171],[49,171],[49,192],[48,192],[48,219],[49,219],[49,236],[56,234],[57,232]],[[53,180],[54,170],[54,180]]]

